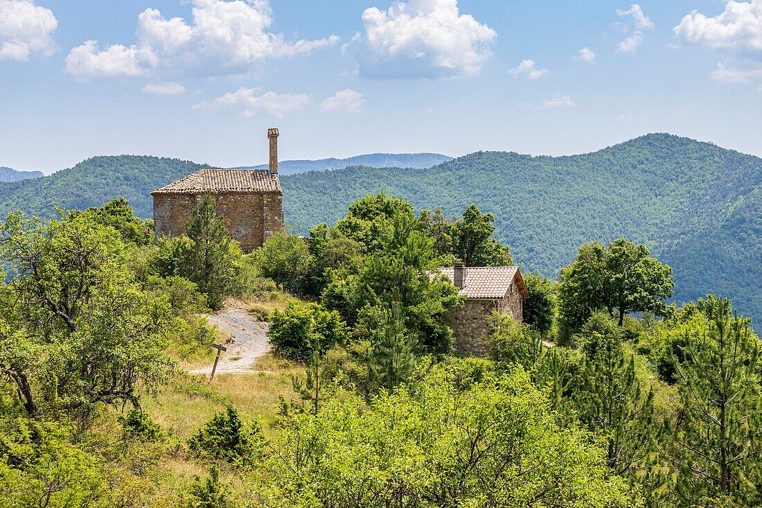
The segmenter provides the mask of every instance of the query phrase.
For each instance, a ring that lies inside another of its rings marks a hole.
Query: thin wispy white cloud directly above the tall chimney
[[[243,117],[253,117],[260,112],[274,117],[283,117],[290,111],[297,111],[309,104],[306,94],[277,94],[267,92],[256,95],[256,88],[241,87],[235,92],[229,92],[212,101],[200,102],[191,106],[194,110],[203,111],[237,111]]]

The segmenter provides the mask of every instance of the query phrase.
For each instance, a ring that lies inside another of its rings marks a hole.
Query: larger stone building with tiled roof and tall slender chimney
[[[200,169],[151,193],[157,236],[179,236],[207,193],[230,236],[251,251],[283,232],[283,190],[278,179],[277,129],[268,129],[269,169]]]

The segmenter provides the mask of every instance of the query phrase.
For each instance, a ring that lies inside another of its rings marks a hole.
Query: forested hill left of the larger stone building
[[[151,217],[153,189],[203,167],[210,166],[149,156],[91,157],[50,176],[0,183],[0,217],[17,209],[53,217],[56,206],[85,209],[120,197],[130,201],[139,217]]]

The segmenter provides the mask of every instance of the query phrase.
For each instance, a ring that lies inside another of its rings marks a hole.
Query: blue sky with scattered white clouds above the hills
[[[94,42],[94,41],[97,41]],[[762,0],[0,0],[0,166],[562,155],[670,132],[762,156]]]

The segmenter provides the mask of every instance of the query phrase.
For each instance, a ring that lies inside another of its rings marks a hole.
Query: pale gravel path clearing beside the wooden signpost
[[[226,344],[228,350],[219,357],[216,374],[226,372],[249,372],[254,368],[258,358],[270,351],[267,342],[267,323],[257,318],[245,309],[227,307],[224,310],[207,316],[210,325],[219,326],[219,330],[229,333],[232,342]],[[208,367],[191,371],[194,374],[210,374],[213,362]]]

